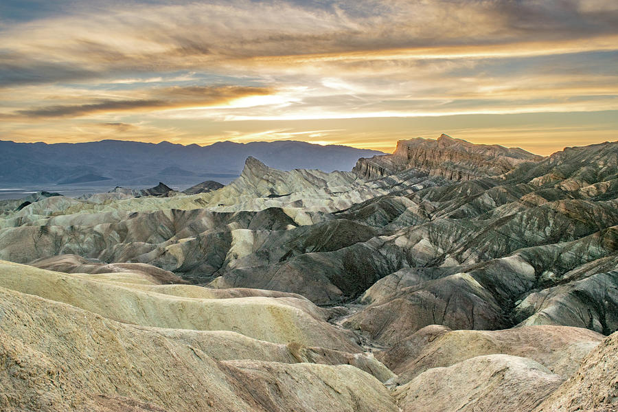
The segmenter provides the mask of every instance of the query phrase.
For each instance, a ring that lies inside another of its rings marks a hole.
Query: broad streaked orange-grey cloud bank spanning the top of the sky
[[[618,36],[618,12],[591,13],[591,6],[573,1],[343,1],[310,8],[232,0],[82,8],[74,16],[8,27],[1,36],[12,55],[38,59],[32,65],[9,58],[8,69],[30,67],[21,81],[54,82],[67,80],[69,67],[80,79],[128,71],[221,71],[253,58],[275,64],[281,58],[307,63],[525,55],[614,47],[611,39]]]

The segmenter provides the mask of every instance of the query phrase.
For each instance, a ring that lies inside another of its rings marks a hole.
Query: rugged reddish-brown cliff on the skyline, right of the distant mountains
[[[520,148],[472,144],[441,135],[437,140],[400,140],[392,155],[358,159],[353,171],[373,180],[413,168],[430,176],[466,181],[499,176],[525,161],[542,159]]]

